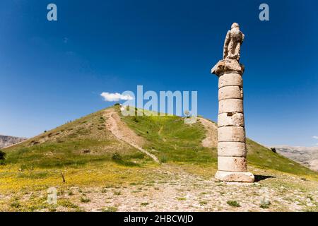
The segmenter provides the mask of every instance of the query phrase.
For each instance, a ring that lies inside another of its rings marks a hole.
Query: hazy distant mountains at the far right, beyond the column
[[[310,169],[318,171],[318,147],[293,147],[288,145],[274,146],[277,153],[299,162]]]

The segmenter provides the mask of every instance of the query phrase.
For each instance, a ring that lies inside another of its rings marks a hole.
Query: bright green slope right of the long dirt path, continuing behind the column
[[[201,141],[205,138],[204,126],[184,124],[184,119],[176,116],[166,117],[122,117],[127,125],[148,141],[148,150],[160,159],[175,162],[208,163],[216,165],[217,149],[204,148]],[[217,131],[215,131],[217,133]],[[276,169],[292,174],[317,175],[306,167],[282,155],[273,153],[269,148],[247,139],[247,160],[250,165],[265,169]]]

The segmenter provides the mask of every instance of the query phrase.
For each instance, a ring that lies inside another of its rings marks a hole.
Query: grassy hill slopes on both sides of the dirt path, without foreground
[[[115,109],[120,114],[119,106],[115,106]],[[93,162],[116,162],[118,155],[122,159],[119,162],[121,164],[141,165],[151,162],[139,150],[120,143],[112,136],[105,128],[104,111],[89,114],[6,148],[6,165],[19,165],[22,169],[80,167]],[[122,117],[122,121],[137,135],[146,138],[143,148],[158,156],[161,162],[211,164],[216,167],[217,150],[201,145],[206,131],[199,121],[184,124],[184,119],[176,116]],[[254,167],[291,174],[317,174],[250,139],[247,139],[247,151],[248,162]]]

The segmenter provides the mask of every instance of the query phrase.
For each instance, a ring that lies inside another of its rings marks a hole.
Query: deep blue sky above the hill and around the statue
[[[57,4],[58,21],[47,20]],[[259,20],[269,4],[270,20]],[[216,121],[227,30],[245,33],[247,136],[318,145],[317,1],[78,1],[0,3],[0,133],[35,136],[113,105],[100,93],[197,90]]]

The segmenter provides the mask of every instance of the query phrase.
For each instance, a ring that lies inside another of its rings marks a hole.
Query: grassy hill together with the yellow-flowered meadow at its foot
[[[113,108],[126,126],[145,140],[142,148],[157,156],[162,164],[116,138],[106,128],[103,109],[4,149],[6,160],[0,165],[0,196],[4,194],[8,198],[0,201],[0,210],[49,210],[52,206],[43,204],[43,201],[50,186],[63,192],[61,196],[64,198],[59,199],[55,209],[83,210],[81,205],[67,203],[71,196],[65,198],[64,191],[71,193],[73,190],[70,189],[76,187],[82,200],[87,194],[80,190],[91,186],[129,188],[136,184],[160,184],[160,180],[164,184],[166,174],[185,172],[192,179],[213,178],[217,150],[216,147],[202,146],[206,130],[199,121],[184,124],[184,119],[176,116],[122,117],[119,106]],[[247,150],[249,169],[255,174],[273,174],[277,178],[295,175],[295,178],[303,178],[304,183],[305,178],[318,182],[317,172],[249,139]],[[286,183],[284,186],[295,187],[292,182]],[[274,184],[278,186],[281,181],[276,180]],[[27,201],[14,205],[16,199],[34,191],[38,191],[42,198],[29,197]]]

